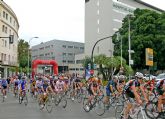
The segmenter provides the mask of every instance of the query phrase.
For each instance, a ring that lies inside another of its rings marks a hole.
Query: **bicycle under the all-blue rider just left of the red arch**
[[[22,95],[19,94],[19,104],[22,104],[24,102],[25,106],[28,104],[28,97],[26,94],[26,90],[22,90]]]

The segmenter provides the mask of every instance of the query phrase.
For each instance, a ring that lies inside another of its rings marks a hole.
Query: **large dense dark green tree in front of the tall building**
[[[165,13],[159,14],[151,10],[136,9],[134,16],[130,19],[131,49],[135,52],[132,54],[133,68],[135,70],[147,68],[145,65],[145,48],[152,48],[157,68],[164,69]],[[119,29],[119,32],[123,40],[123,57],[128,61],[128,16],[123,19],[122,28]],[[113,42],[118,42],[115,34]],[[114,55],[120,55],[120,46],[115,45],[114,51]]]

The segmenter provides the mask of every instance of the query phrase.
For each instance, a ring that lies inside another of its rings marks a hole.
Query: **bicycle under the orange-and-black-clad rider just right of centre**
[[[105,113],[105,104],[102,101],[103,97],[104,95],[101,97],[96,95],[91,103],[89,103],[89,99],[87,97],[84,97],[83,109],[86,112],[90,112],[92,109],[94,109],[97,115],[102,116]]]

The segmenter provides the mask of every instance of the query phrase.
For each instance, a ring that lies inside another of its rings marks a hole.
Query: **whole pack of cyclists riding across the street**
[[[104,94],[104,88],[101,78],[99,77],[90,77],[85,83],[82,82],[82,78],[78,76],[74,77],[65,77],[63,75],[57,76],[43,76],[39,75],[36,79],[30,80],[30,92],[34,96],[38,96],[38,99],[44,103],[44,100],[49,94],[59,94],[66,92],[72,88],[72,100],[77,94],[77,90],[80,90],[82,87],[86,87],[88,92],[88,102],[91,103],[93,98],[97,95]],[[158,111],[162,113],[162,104],[165,104],[165,79],[162,79],[158,82],[155,82],[155,77],[152,77],[151,80],[145,81],[144,76],[140,72],[136,72],[133,79],[126,82],[126,76],[119,75],[113,76],[111,80],[108,81],[105,87],[104,103],[109,108],[109,98],[114,95],[124,94],[124,97],[127,99],[127,105],[125,106],[124,119],[128,118],[129,111],[133,108],[133,103],[139,105],[143,104],[143,101],[146,103],[149,102],[149,95],[152,93],[154,88],[157,91],[158,97]],[[19,90],[19,95],[22,95],[24,90],[28,89],[27,77],[22,76],[19,78],[15,76],[11,80],[2,79],[0,80],[0,87],[2,94],[6,97],[6,92],[9,84],[13,84],[13,93]]]

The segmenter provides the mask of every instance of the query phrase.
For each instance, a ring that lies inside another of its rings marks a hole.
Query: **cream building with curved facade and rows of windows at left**
[[[18,66],[19,23],[14,11],[3,1],[0,1],[0,75],[7,77],[9,68]],[[9,39],[9,36],[11,39]]]

